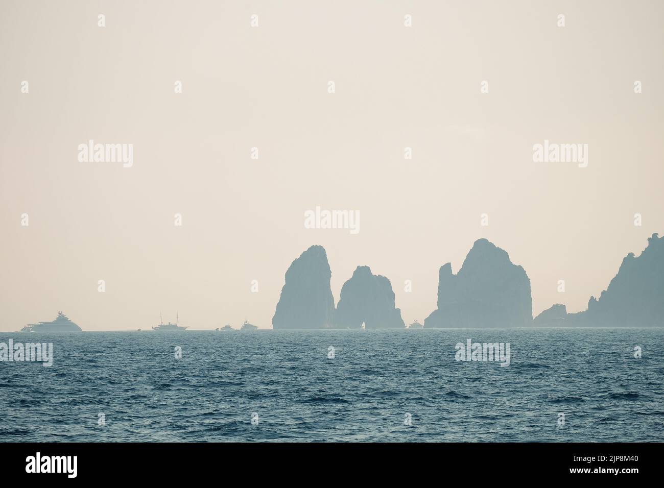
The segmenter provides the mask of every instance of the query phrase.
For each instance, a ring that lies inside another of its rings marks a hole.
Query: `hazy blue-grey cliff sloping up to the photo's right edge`
[[[552,323],[546,316],[539,322],[561,324],[560,321]],[[590,297],[588,310],[566,314],[562,324],[580,327],[664,325],[664,237],[653,234],[638,257],[631,252],[627,254],[618,274],[599,299]]]

